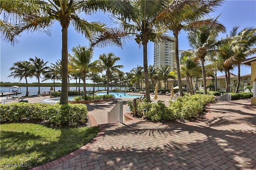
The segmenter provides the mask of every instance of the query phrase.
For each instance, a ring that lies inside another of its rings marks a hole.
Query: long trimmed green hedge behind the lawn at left
[[[85,122],[88,114],[87,107],[82,104],[0,104],[0,111],[1,122],[18,122],[26,119],[48,121],[56,125],[61,125],[62,123],[76,125],[78,122]]]

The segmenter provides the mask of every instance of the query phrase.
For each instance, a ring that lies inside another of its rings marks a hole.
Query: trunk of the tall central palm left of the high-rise
[[[149,94],[149,80],[148,80],[148,48],[147,48],[147,41],[143,41],[143,67],[144,67],[144,79],[145,79],[145,86],[146,86],[146,98],[147,101],[150,101],[150,94]]]

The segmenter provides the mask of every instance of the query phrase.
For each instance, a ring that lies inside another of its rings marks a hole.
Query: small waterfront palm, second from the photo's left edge
[[[40,94],[40,77],[41,74],[44,74],[44,72],[48,69],[48,66],[46,64],[48,61],[44,63],[44,59],[38,59],[35,57],[35,59],[30,58],[29,61],[32,62],[32,72],[34,73],[34,76],[36,76],[38,80],[38,94]]]

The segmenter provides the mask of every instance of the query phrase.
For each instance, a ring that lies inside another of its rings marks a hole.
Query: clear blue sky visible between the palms
[[[225,37],[226,34],[230,32],[232,27],[240,26],[240,29],[244,27],[256,27],[256,0],[227,0],[222,6],[216,10],[216,12],[211,13],[209,16],[216,18],[218,15],[218,21],[226,27],[226,33],[220,35],[220,37]],[[101,21],[108,25],[112,25],[112,21],[108,18],[108,15],[102,13],[96,13],[92,16],[86,16],[84,18],[88,21]],[[51,28],[51,36],[44,33],[22,33],[19,37],[19,43],[12,46],[10,43],[1,41],[0,43],[0,81],[2,82],[18,82],[19,79],[14,79],[9,77],[9,68],[13,66],[13,63],[17,61],[28,61],[29,58],[34,58],[35,56],[44,59],[44,61],[49,61],[50,63],[55,63],[58,59],[61,59],[61,26],[58,22],[55,22]],[[172,32],[169,33],[172,36]],[[77,45],[89,46],[89,42],[81,34],[78,34],[70,24],[68,28],[68,53],[72,53],[72,47]],[[186,32],[181,32],[179,35],[179,49],[188,50],[191,49],[188,41]],[[137,65],[143,66],[143,51],[142,48],[138,47],[138,44],[134,41],[127,41],[124,44],[123,49],[119,47],[104,47],[94,49],[94,58],[92,61],[99,58],[100,54],[103,53],[114,53],[114,55],[121,58],[117,64],[124,65],[122,68],[123,72],[129,72],[132,68]],[[148,65],[153,64],[153,53],[154,44],[148,43]],[[232,71],[237,75],[237,69]],[[242,67],[241,75],[249,74],[249,67]],[[224,73],[218,73],[218,76]],[[25,82],[22,79],[21,82]],[[37,82],[36,78],[28,79],[28,82]],[[51,82],[50,80],[46,82]],[[71,80],[75,82],[75,80]],[[87,82],[90,82],[87,80]]]

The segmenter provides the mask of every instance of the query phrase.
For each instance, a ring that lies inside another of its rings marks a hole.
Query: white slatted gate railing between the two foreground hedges
[[[123,123],[123,101],[120,100],[117,104],[108,111],[108,123],[114,122]]]

